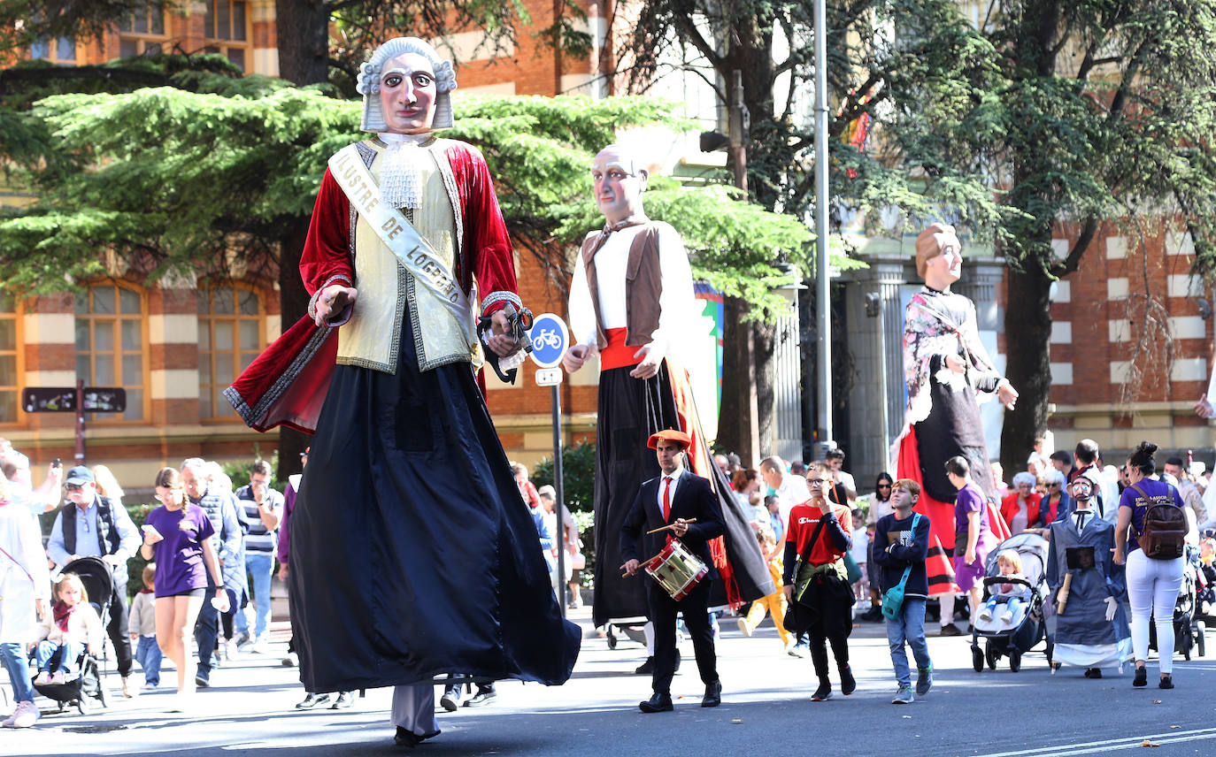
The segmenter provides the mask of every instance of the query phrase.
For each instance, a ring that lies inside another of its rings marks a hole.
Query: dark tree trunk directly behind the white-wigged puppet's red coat
[[[276,0],[275,33],[278,39],[280,77],[299,86],[328,80],[330,9],[325,0]],[[278,298],[283,331],[308,313],[309,294],[299,275],[300,252],[308,237],[308,216],[299,219],[280,243]],[[280,426],[280,480],[300,471],[300,452],[308,445],[306,434]]]

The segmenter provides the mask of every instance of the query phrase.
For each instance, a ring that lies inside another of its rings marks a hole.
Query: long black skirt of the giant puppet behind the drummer
[[[666,361],[652,379],[629,375],[634,366],[612,368],[599,374],[599,416],[596,422],[596,598],[592,620],[599,626],[612,620],[644,617],[647,615],[646,582],[653,581],[640,574],[623,578],[619,566],[620,529],[629,509],[637,497],[643,481],[659,475],[659,463],[654,450],[646,446],[651,434],[662,429],[681,429],[693,436],[694,444],[704,445],[696,408],[691,406],[687,386],[672,386],[672,371]],[[679,369],[679,375],[685,375]],[[680,391],[676,391],[680,389]],[[685,397],[685,406],[677,407],[676,396]],[[681,423],[681,416],[685,423]],[[686,428],[696,425],[696,429]],[[719,565],[724,581],[714,581],[710,588],[711,606],[728,604],[728,599],[751,601],[771,594],[772,577],[760,555],[755,532],[748,525],[748,514],[731,492],[725,474],[713,465],[708,448],[694,451],[706,464],[711,484],[722,510],[726,564]],[[653,555],[643,555],[651,558]],[[641,581],[638,578],[642,578]],[[737,587],[737,598],[730,597],[726,581]]]

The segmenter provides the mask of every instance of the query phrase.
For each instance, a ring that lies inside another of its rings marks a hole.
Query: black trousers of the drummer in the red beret
[[[685,626],[692,635],[702,682],[708,685],[717,680],[714,628],[709,625],[709,580],[702,581],[687,597],[676,601],[648,578],[646,599],[651,622],[654,623],[654,674],[651,685],[659,694],[671,694],[671,678],[676,674],[676,612],[683,614]]]

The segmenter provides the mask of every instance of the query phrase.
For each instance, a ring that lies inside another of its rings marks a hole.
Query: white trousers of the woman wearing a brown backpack
[[[1173,672],[1173,605],[1182,588],[1182,558],[1154,560],[1142,549],[1127,554],[1127,599],[1132,605],[1132,650],[1148,659],[1148,618],[1156,625],[1162,674]]]

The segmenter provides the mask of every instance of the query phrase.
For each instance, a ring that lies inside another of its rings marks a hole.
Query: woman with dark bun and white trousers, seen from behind
[[[1149,617],[1156,623],[1156,650],[1162,689],[1173,688],[1173,605],[1182,588],[1183,558],[1158,560],[1149,558],[1137,543],[1144,527],[1144,513],[1152,504],[1172,504],[1182,508],[1178,490],[1165,481],[1148,476],[1156,470],[1153,453],[1156,445],[1142,441],[1127,458],[1127,480],[1131,485],[1119,498],[1119,524],[1115,526],[1115,563],[1127,566],[1127,598],[1132,606],[1132,650],[1136,655],[1133,687],[1148,685],[1144,659],[1148,657]],[[1137,487],[1143,493],[1136,491]],[[1147,497],[1145,497],[1147,495]],[[1132,532],[1128,535],[1128,526]],[[1126,548],[1126,552],[1125,552]]]

